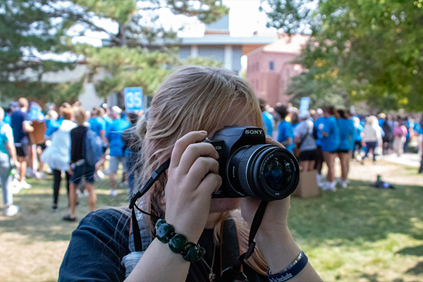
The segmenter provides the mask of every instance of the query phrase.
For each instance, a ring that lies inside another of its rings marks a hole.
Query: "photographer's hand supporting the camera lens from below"
[[[283,147],[281,143],[276,142],[267,135],[266,143]],[[245,197],[241,200],[241,214],[250,226],[260,202],[260,200],[252,199],[250,197]],[[262,223],[260,224],[257,235],[259,233],[262,233],[262,235],[273,235],[285,231],[287,227],[289,207],[290,197],[286,197],[283,200],[270,201],[269,204],[267,204],[266,212],[264,213],[264,217],[262,219]]]

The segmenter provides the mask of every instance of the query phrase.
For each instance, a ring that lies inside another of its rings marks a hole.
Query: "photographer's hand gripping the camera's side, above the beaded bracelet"
[[[175,144],[165,188],[166,222],[175,232],[197,242],[209,216],[212,192],[220,187],[219,154],[200,142],[205,131],[193,131]]]

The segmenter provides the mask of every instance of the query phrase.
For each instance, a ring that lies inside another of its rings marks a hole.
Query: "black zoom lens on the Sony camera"
[[[252,145],[238,149],[228,161],[229,183],[240,195],[259,200],[280,200],[297,188],[297,159],[275,145]]]

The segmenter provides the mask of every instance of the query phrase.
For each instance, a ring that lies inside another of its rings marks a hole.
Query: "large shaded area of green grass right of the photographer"
[[[295,238],[313,246],[357,245],[389,233],[423,240],[416,223],[423,220],[423,188],[396,185],[395,190],[352,180],[349,189],[324,191],[319,197],[291,200],[289,226]]]

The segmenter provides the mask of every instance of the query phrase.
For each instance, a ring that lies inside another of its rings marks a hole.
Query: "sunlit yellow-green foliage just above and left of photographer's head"
[[[90,58],[87,66],[99,97],[107,97],[111,92],[121,93],[125,87],[142,87],[143,94],[153,96],[173,67],[188,64],[221,67],[222,64],[202,57],[180,60],[174,56],[177,49],[164,52],[128,46],[94,48],[80,45],[80,48]],[[105,76],[94,78],[102,74]]]

